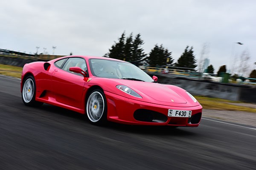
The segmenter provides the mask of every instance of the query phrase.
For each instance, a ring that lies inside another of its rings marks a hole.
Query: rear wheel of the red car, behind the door
[[[32,76],[26,77],[22,86],[22,101],[27,106],[40,106],[43,103],[35,101],[35,79]]]

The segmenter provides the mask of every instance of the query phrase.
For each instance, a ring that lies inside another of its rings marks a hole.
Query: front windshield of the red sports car
[[[129,79],[135,81],[153,82],[154,80],[135,65],[108,59],[90,59],[92,74],[96,77]]]

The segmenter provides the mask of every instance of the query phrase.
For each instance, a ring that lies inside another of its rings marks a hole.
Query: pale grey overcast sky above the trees
[[[218,71],[241,52],[256,69],[255,0],[8,0],[0,5],[0,48],[56,55],[103,56],[122,32],[141,34],[149,53],[155,44],[175,62],[186,45],[200,59],[204,44]],[[242,42],[244,45],[236,44]],[[236,66],[235,65],[235,66]]]

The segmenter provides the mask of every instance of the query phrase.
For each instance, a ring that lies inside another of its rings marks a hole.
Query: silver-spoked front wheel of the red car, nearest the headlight
[[[102,90],[92,91],[86,102],[87,116],[92,124],[103,125],[107,121],[107,102]]]

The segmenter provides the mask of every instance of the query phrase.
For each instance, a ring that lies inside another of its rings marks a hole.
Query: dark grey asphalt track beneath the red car
[[[94,126],[66,109],[26,107],[20,80],[0,76],[0,170],[255,170],[255,127],[212,120]]]

